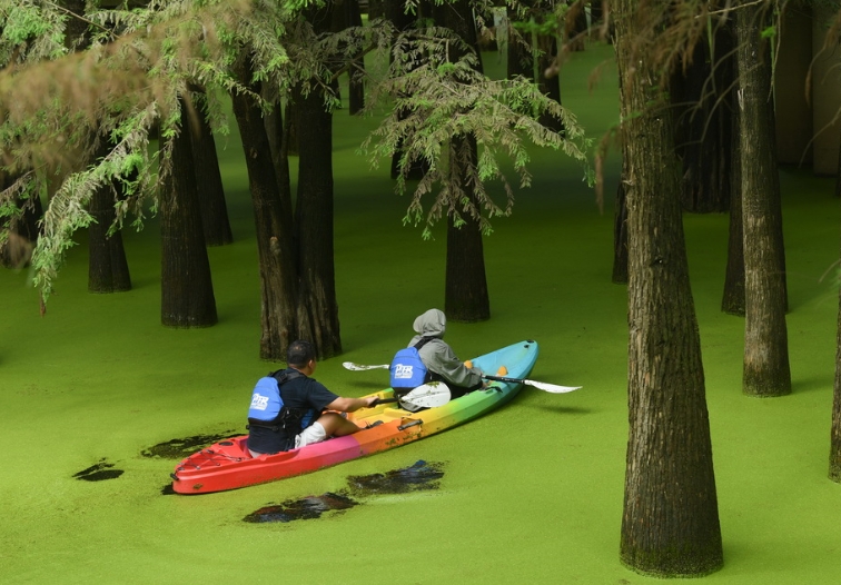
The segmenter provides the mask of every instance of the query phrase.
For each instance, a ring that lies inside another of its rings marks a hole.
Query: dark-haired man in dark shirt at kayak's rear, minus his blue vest
[[[342,437],[362,430],[362,427],[339,413],[368,408],[377,400],[376,397],[342,397],[310,378],[316,369],[316,359],[315,348],[309,341],[293,341],[286,361],[288,367],[274,375],[279,383],[284,404],[277,419],[248,419],[248,450],[253,457],[297,449],[328,437]]]

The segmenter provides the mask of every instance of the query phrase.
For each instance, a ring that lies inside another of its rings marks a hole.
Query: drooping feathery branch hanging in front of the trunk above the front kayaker
[[[449,56],[455,52],[464,57],[452,61]],[[424,222],[425,238],[444,215],[459,225],[462,215],[467,214],[484,234],[489,234],[491,219],[509,215],[514,205],[503,161],[513,166],[521,187],[531,184],[526,143],[558,150],[580,161],[592,184],[587,165],[591,142],[583,128],[572,112],[534,83],[523,78],[492,80],[479,73],[476,56],[447,29],[400,36],[393,57],[389,76],[375,88],[369,105],[375,109],[376,98],[394,100],[392,112],[360,151],[370,157],[373,166],[399,152],[399,194],[407,189],[408,169],[419,161],[426,163],[428,171],[418,181],[404,218],[415,226]],[[544,116],[562,120],[564,133],[543,126],[540,119]],[[454,141],[454,137],[464,140]],[[478,152],[475,160],[474,142]],[[497,201],[488,189],[491,181],[502,185],[503,200]],[[427,209],[423,201],[429,194],[434,196]]]

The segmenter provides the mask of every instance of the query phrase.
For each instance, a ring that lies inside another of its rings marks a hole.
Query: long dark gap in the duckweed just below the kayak
[[[345,510],[359,505],[355,498],[384,494],[406,494],[422,489],[437,489],[444,477],[443,465],[419,460],[410,467],[393,469],[384,474],[353,475],[347,478],[349,489],[328,492],[320,496],[307,496],[279,505],[264,506],[243,518],[250,523],[291,522],[319,518],[330,510]],[[353,497],[350,497],[353,496]]]

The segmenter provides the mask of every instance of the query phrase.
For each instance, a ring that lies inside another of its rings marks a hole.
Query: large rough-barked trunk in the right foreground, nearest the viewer
[[[701,344],[667,98],[639,36],[637,0],[617,6],[624,156],[629,161],[629,442],[620,558],[660,577],[723,564]],[[659,98],[659,99],[657,99]]]

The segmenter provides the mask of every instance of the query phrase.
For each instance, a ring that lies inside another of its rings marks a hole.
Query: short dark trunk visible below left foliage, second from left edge
[[[108,229],[117,214],[113,209],[113,188],[101,186],[93,192],[89,212],[96,221],[88,228],[88,290],[90,292],[120,292],[131,290],[126,250],[122,246],[122,232],[115,231],[110,237]]]

